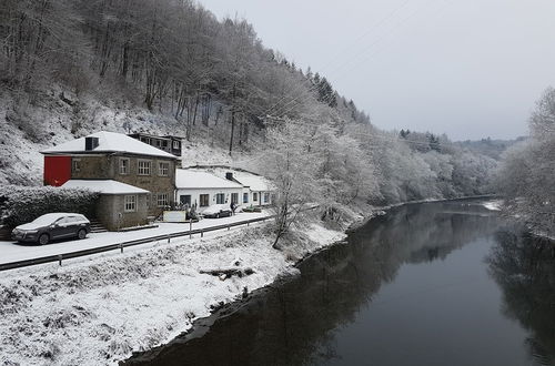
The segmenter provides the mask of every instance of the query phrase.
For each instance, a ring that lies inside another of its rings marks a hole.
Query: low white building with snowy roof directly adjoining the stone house
[[[175,173],[175,202],[195,206],[199,213],[212,204],[242,204],[243,186],[214,174],[188,169]]]

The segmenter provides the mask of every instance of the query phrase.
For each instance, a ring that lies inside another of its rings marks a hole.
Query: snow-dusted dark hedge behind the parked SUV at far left
[[[0,186],[0,223],[8,227],[28,223],[50,212],[91,215],[99,194],[53,186]]]

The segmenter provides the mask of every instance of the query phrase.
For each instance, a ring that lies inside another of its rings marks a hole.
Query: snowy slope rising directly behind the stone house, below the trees
[[[138,106],[102,103],[92,96],[69,95],[53,87],[49,94],[41,95],[40,102],[24,110],[13,108],[16,102],[9,93],[0,95],[0,184],[42,184],[40,151],[99,131],[185,135],[183,125],[169,115]],[[185,166],[233,164],[241,159],[240,153],[232,159],[220,148],[221,139],[211,136],[209,130],[198,131],[199,135],[192,136],[191,142],[183,143]]]

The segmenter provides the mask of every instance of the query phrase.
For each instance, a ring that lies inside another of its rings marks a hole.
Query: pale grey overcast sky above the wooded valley
[[[555,0],[200,0],[307,65],[386,130],[527,133],[555,87]]]

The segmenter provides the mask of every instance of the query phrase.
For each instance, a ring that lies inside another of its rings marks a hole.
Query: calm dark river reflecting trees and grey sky
[[[390,211],[130,365],[555,365],[555,252],[480,202]]]

